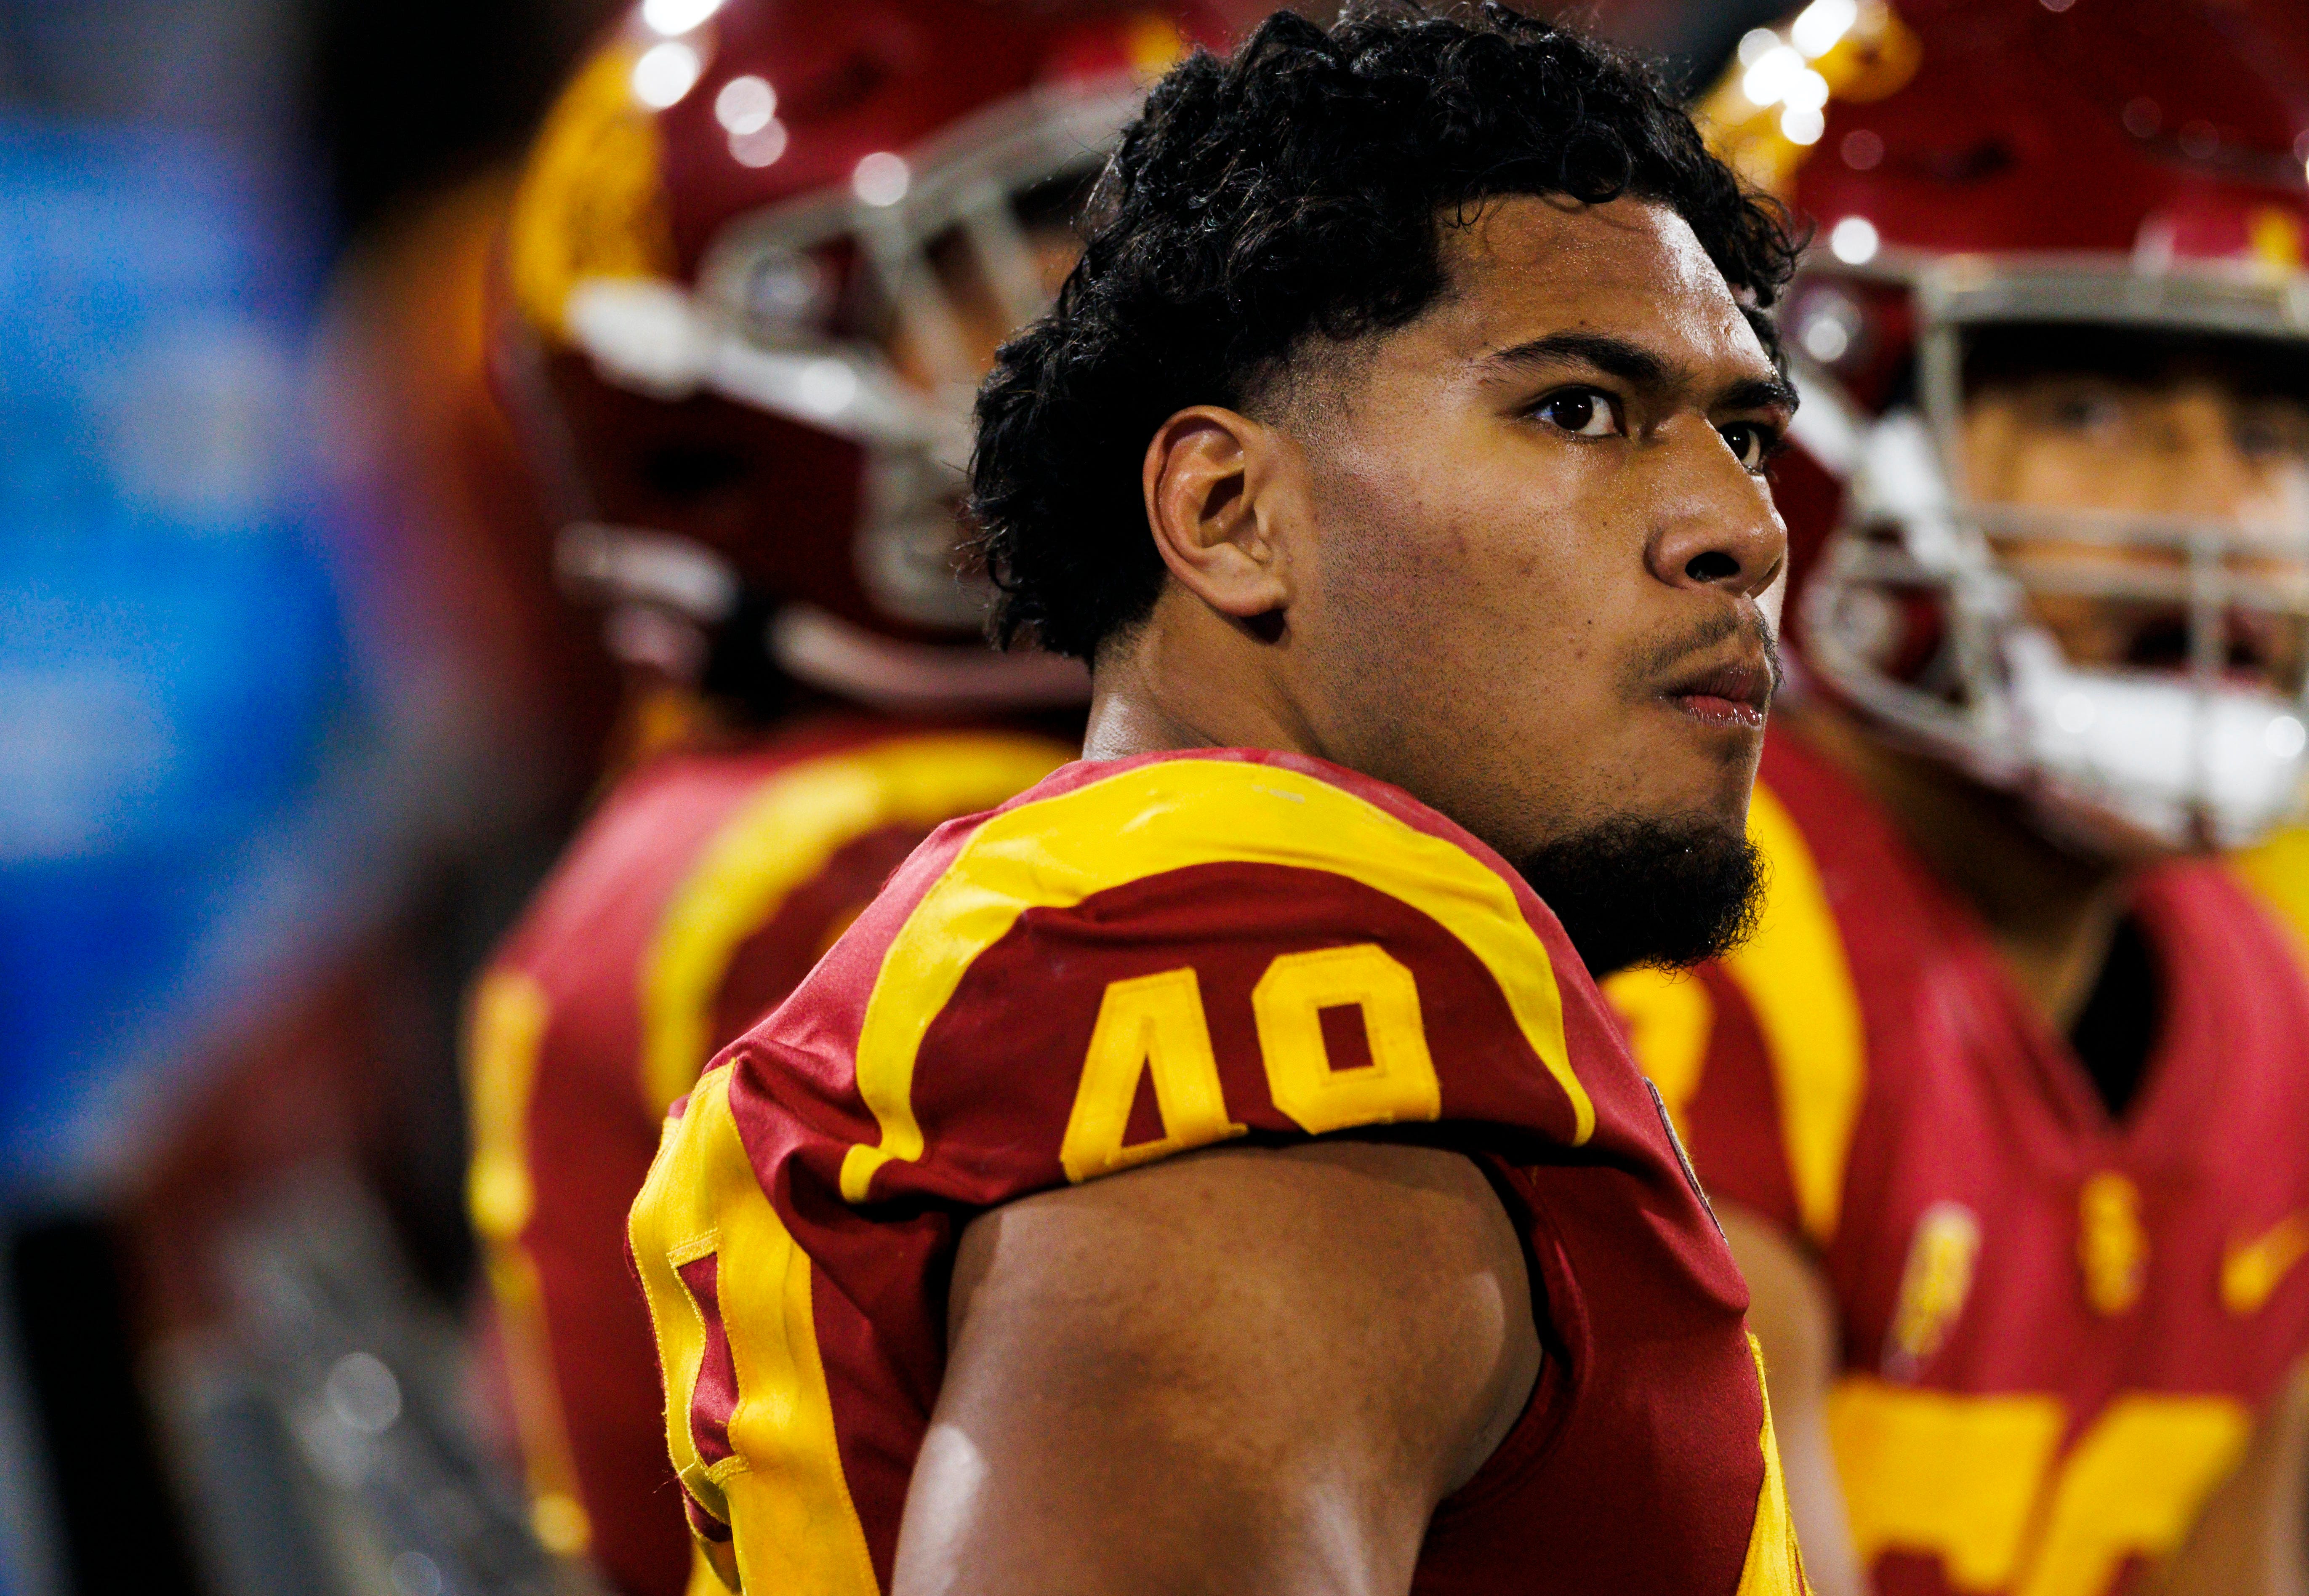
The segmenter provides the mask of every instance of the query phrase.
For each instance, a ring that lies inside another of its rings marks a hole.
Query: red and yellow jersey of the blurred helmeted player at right
[[[2309,991],[2217,864],[2131,905],[2161,1028],[2113,1120],[1891,820],[1773,734],[1757,938],[1612,998],[1709,1194],[1826,1275],[1882,1596],[2101,1596],[2170,1550],[2309,1349]]]

